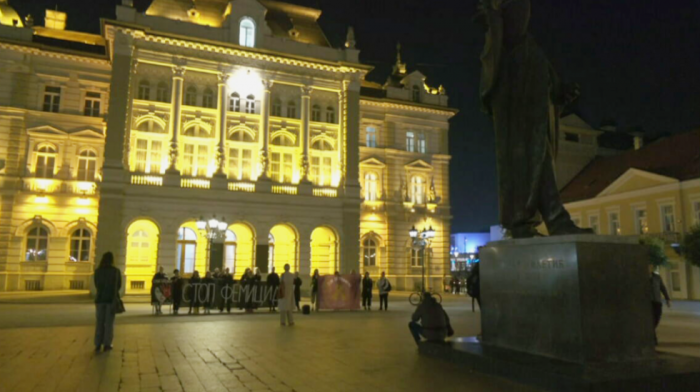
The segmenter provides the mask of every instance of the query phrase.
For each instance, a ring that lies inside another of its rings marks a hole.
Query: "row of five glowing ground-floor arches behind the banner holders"
[[[195,270],[204,276],[209,270],[209,240],[197,229],[194,220],[184,222],[177,230],[177,235],[163,235],[156,222],[139,219],[127,228],[126,242],[126,284],[127,293],[147,293],[151,289],[151,279],[158,266],[163,266],[170,276],[177,268],[185,277]],[[277,224],[266,234],[267,243],[255,228],[246,222],[229,225],[224,238],[215,240],[223,242],[222,265],[238,279],[246,268],[256,267],[258,245],[268,246],[267,271],[272,267],[279,273],[289,264],[293,271],[301,269],[300,260],[310,260],[310,271],[318,269],[321,274],[332,274],[339,268],[340,237],[334,228],[319,226],[315,228],[309,241],[310,254],[301,255],[300,235],[297,229],[288,223]],[[164,238],[174,238],[171,244],[162,243]],[[174,252],[166,252],[166,246],[172,246]],[[159,251],[160,250],[160,251]],[[161,254],[172,254],[164,257]],[[264,257],[264,256],[263,256]],[[258,264],[259,265],[259,264]],[[266,271],[263,271],[266,272]]]

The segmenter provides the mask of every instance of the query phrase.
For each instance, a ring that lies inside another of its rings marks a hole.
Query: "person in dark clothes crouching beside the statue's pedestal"
[[[429,342],[444,342],[445,338],[454,335],[445,309],[430,293],[423,294],[423,302],[413,312],[408,329],[416,344],[420,344],[421,337]]]

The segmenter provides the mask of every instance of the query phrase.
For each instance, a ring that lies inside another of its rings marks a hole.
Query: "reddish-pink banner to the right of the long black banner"
[[[324,275],[318,278],[319,309],[359,310],[359,274]]]

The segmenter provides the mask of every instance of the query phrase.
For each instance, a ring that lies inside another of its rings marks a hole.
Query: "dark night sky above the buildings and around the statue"
[[[68,13],[68,28],[99,32],[119,0],[10,0],[43,24],[43,10]],[[368,79],[384,82],[401,42],[409,71],[443,84],[460,114],[451,122],[453,232],[496,224],[494,141],[478,104],[483,31],[471,23],[477,0],[289,0],[323,10],[331,43],[355,28]],[[149,0],[136,0],[143,10]],[[530,31],[560,77],[581,86],[572,108],[593,126],[614,119],[647,134],[700,125],[700,2],[697,0],[533,0]]]

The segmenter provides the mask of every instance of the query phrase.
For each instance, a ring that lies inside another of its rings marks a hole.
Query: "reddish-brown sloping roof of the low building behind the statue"
[[[679,181],[700,178],[700,130],[657,140],[639,150],[597,157],[561,191],[564,203],[596,197],[629,169]]]

